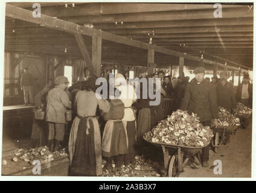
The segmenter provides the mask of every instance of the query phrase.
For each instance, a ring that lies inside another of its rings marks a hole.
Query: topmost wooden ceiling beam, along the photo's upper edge
[[[24,3],[22,3],[24,4]],[[20,4],[20,6],[22,6]],[[56,4],[56,3],[55,3]],[[60,5],[65,3],[59,3]],[[70,3],[68,3],[70,4]],[[68,8],[64,6],[44,7],[42,14],[48,16],[86,16],[86,15],[104,15],[104,14],[123,14],[123,13],[145,13],[155,11],[180,11],[180,10],[205,10],[213,9],[213,4],[151,4],[151,3],[80,3],[75,2],[75,7]],[[13,5],[15,5],[13,3]],[[58,4],[56,4],[58,5]],[[18,6],[18,5],[17,5]],[[18,7],[20,7],[18,6]],[[32,7],[32,3],[27,8]],[[241,5],[222,5],[222,8],[237,8]]]

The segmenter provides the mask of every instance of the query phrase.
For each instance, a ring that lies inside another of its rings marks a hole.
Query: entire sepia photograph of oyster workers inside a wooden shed
[[[2,177],[253,177],[253,2],[3,6]]]

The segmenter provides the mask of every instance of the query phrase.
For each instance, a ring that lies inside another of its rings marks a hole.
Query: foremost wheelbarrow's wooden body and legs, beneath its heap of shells
[[[202,148],[207,147],[210,144],[209,143],[203,147],[186,147],[182,145],[156,144],[152,141],[148,141],[145,137],[143,138],[150,144],[162,148],[164,153],[165,176],[168,177],[179,177],[179,174],[183,172],[184,166],[187,164],[188,160],[194,162],[194,159],[191,158],[196,158],[196,153],[199,153]]]

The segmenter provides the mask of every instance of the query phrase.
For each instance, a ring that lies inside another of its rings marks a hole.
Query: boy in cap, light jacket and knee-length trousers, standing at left
[[[65,113],[66,109],[71,109],[71,101],[65,92],[68,84],[68,78],[64,76],[55,78],[55,86],[46,97],[46,121],[49,126],[48,147],[51,151],[60,151],[60,143],[65,136]]]

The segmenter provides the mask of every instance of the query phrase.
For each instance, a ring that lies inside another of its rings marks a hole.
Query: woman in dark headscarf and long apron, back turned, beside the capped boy
[[[100,176],[102,174],[101,136],[97,107],[109,111],[109,102],[95,93],[97,77],[90,77],[75,96],[77,116],[69,136],[69,176]]]

